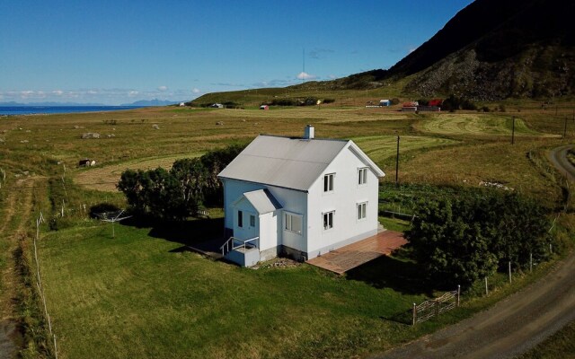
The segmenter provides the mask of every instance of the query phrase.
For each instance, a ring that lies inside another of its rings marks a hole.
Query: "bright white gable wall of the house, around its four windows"
[[[358,185],[358,169],[367,167],[358,156],[344,149],[314,182],[309,193],[307,255],[315,258],[330,250],[377,233],[378,187],[376,174],[367,170],[367,184]],[[323,192],[323,176],[334,173],[333,191]],[[359,203],[367,202],[367,218],[358,220]],[[333,228],[323,229],[323,213],[334,211]]]

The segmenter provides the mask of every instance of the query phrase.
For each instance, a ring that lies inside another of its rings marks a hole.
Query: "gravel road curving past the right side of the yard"
[[[572,145],[553,149],[549,160],[575,180],[566,159]],[[553,272],[488,311],[372,358],[511,358],[575,320],[575,254]]]

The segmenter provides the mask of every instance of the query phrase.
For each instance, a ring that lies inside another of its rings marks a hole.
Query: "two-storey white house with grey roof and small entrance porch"
[[[350,140],[258,136],[218,175],[226,258],[250,267],[281,255],[311,259],[377,233],[385,176]]]

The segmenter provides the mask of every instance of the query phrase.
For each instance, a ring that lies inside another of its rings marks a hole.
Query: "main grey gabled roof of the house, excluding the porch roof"
[[[218,176],[307,191],[348,145],[365,156],[376,174],[385,175],[352,141],[261,135]]]

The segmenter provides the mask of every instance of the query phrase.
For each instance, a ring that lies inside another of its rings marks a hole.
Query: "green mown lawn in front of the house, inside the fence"
[[[89,221],[43,236],[58,357],[346,358],[438,326],[394,321],[426,297],[418,290],[306,264],[240,268],[181,250],[185,233],[170,241],[150,233],[117,225],[112,239],[110,223]]]

